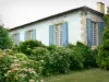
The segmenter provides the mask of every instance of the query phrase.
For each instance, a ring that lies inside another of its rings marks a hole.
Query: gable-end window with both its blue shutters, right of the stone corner
[[[89,47],[93,47],[101,44],[101,36],[105,26],[104,22],[94,22],[87,19],[86,23],[87,23],[87,45]]]

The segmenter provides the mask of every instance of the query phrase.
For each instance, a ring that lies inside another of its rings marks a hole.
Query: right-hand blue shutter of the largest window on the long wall
[[[68,22],[63,23],[63,46],[68,46]]]

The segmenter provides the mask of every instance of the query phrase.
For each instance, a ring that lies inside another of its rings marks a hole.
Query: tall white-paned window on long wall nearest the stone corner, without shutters
[[[53,45],[63,46],[63,26],[62,23],[53,26]]]

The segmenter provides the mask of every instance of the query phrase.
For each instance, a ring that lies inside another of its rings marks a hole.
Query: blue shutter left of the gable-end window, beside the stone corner
[[[86,19],[86,25],[87,25],[87,46],[92,47],[92,21],[89,19]]]

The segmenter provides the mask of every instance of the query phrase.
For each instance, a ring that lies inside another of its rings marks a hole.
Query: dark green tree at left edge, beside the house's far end
[[[12,47],[12,42],[9,37],[9,30],[0,25],[0,49],[8,49]]]

